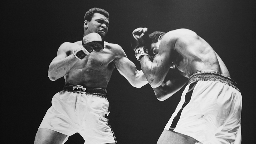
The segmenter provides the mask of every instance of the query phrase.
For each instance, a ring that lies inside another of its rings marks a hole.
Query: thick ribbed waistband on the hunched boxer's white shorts
[[[219,81],[222,83],[226,83],[229,86],[234,87],[235,89],[237,89],[239,91],[239,89],[237,88],[237,83],[232,80],[229,77],[226,77],[224,75],[222,75],[219,72],[216,71],[212,71],[212,70],[198,70],[195,71],[188,79],[188,84],[196,82],[196,81]]]

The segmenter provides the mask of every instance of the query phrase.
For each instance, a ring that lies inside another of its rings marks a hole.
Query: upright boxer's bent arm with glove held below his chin
[[[55,81],[67,73],[79,60],[85,58],[93,50],[102,51],[104,41],[98,33],[90,33],[83,37],[82,41],[76,43],[63,43],[52,60],[48,70],[48,77]]]

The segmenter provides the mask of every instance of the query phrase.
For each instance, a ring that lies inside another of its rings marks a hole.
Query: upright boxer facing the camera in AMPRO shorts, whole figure
[[[142,71],[127,59],[117,44],[104,42],[109,14],[92,8],[84,16],[84,37],[63,43],[49,66],[55,81],[64,76],[66,85],[52,98],[36,133],[34,144],[61,144],[79,133],[86,144],[117,143],[107,115],[106,87],[114,68],[134,86],[147,84]]]

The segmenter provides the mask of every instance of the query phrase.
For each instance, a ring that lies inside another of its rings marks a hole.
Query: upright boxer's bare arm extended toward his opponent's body
[[[145,75],[141,70],[137,70],[135,64],[127,58],[124,50],[117,44],[113,44],[112,48],[116,54],[113,62],[120,74],[124,76],[133,87],[141,88],[146,85],[148,81]]]

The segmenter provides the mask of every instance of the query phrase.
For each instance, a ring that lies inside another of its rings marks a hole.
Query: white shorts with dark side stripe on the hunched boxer
[[[242,95],[232,79],[214,71],[196,71],[165,130],[203,144],[232,144],[241,123]]]

